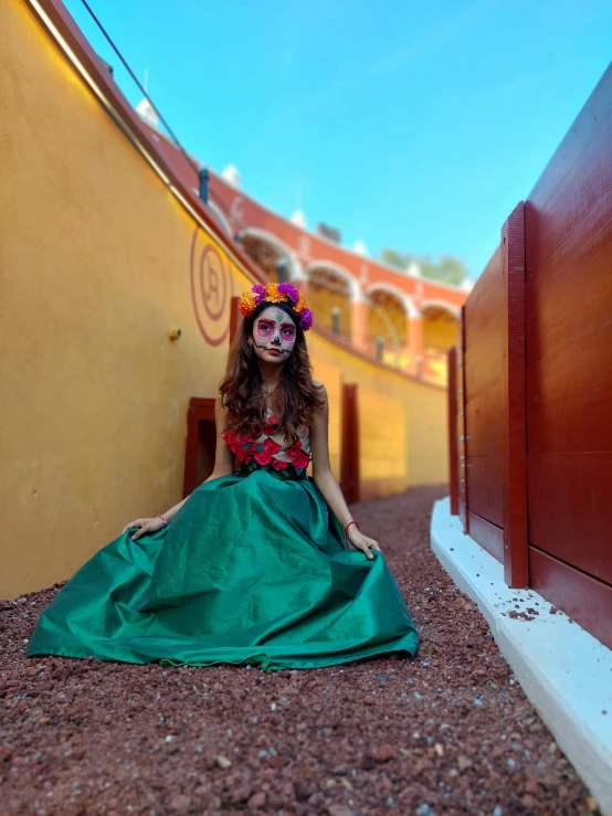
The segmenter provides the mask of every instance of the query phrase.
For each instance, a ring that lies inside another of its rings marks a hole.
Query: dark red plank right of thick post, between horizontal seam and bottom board
[[[611,473],[612,451],[527,456],[529,543],[609,584]]]

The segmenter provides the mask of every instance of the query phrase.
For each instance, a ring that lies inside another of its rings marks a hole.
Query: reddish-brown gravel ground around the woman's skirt
[[[0,602],[1,814],[577,814],[595,803],[429,547],[419,488],[354,508],[423,643],[327,669],[24,658],[60,585]]]

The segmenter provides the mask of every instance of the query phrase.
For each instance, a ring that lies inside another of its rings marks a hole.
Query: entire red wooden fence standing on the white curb
[[[464,530],[612,647],[612,67],[464,306],[454,389]]]

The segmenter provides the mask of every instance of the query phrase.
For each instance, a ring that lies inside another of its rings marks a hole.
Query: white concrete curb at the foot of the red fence
[[[563,613],[551,615],[550,603],[537,592],[509,590],[502,564],[464,536],[460,519],[451,516],[449,497],[434,504],[431,547],[478,605],[523,690],[602,814],[612,816],[612,651]],[[534,607],[539,615],[508,617],[513,598],[519,598],[518,612]]]

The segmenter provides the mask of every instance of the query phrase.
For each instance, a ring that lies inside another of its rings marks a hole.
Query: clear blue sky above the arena
[[[347,246],[474,277],[612,60],[610,0],[88,1],[199,159]]]

